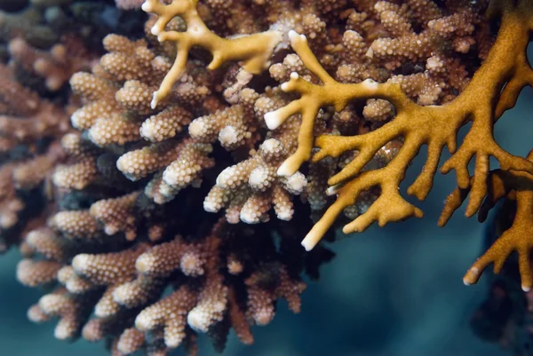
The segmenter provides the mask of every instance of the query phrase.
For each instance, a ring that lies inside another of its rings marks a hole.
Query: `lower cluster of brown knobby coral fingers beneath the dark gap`
[[[30,287],[62,285],[30,308],[31,320],[58,317],[56,337],[74,339],[81,333],[90,341],[107,339],[114,354],[140,349],[159,354],[182,344],[195,354],[197,333],[207,333],[221,350],[230,327],[251,344],[251,326],[273,319],[278,298],[300,311],[306,285],[299,274],[306,268],[316,276],[315,268],[331,258],[326,249],[295,258],[298,240],[286,223],[252,229],[221,219],[203,234],[210,221],[191,224],[198,206],[187,207],[175,223],[175,230],[187,235],[148,233],[128,242],[116,232],[124,222],[135,223],[133,211],[139,214],[143,203],[139,194],[95,202],[90,210],[57,213],[50,227],[28,233],[18,279]],[[175,214],[172,208],[166,214]],[[110,216],[119,223],[114,231]],[[282,235],[279,248],[274,231]],[[169,288],[172,292],[163,294]],[[92,310],[95,318],[88,320]]]

